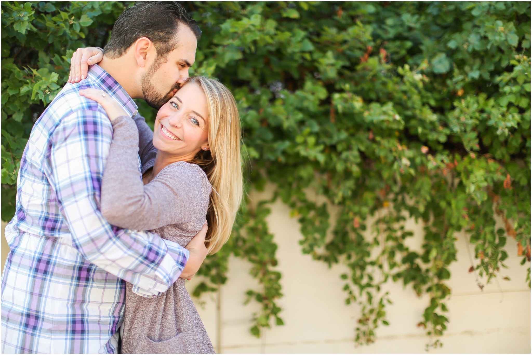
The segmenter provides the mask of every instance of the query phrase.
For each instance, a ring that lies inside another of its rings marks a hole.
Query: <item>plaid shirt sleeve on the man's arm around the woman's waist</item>
[[[111,140],[111,122],[101,111],[63,117],[49,142],[48,179],[72,245],[90,263],[132,283],[138,294],[153,297],[177,280],[188,250],[155,233],[123,230],[105,221],[99,205]]]

